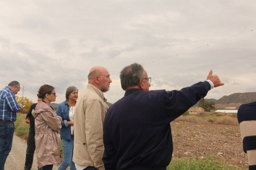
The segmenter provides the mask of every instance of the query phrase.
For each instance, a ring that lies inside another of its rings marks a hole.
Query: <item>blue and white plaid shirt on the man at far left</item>
[[[21,109],[15,98],[15,94],[9,87],[0,90],[0,120],[16,121],[16,112]]]

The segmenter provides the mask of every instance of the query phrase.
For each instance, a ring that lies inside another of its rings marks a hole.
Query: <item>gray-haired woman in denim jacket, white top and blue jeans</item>
[[[70,170],[76,170],[72,157],[74,148],[73,120],[77,97],[78,89],[74,86],[68,87],[66,90],[66,100],[60,103],[56,110],[57,115],[62,118],[60,136],[63,147],[63,161],[58,170],[66,170],[70,163]]]

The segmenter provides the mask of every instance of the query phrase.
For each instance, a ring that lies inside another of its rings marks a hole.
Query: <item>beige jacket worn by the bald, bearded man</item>
[[[108,110],[103,93],[88,84],[79,95],[74,114],[73,161],[82,166],[105,170],[102,162],[103,121]]]

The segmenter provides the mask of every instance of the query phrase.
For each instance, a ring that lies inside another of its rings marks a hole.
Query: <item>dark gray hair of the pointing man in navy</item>
[[[138,63],[133,63],[124,67],[120,72],[122,89],[125,90],[128,87],[138,85],[139,79],[143,77],[143,71],[144,68]]]

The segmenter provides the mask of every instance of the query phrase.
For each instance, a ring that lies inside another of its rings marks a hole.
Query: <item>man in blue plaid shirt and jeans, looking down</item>
[[[0,90],[0,170],[4,170],[6,158],[12,149],[16,112],[22,111],[23,107],[16,101],[15,95],[18,91],[20,91],[18,81],[12,81]]]

